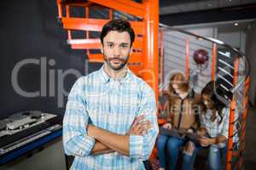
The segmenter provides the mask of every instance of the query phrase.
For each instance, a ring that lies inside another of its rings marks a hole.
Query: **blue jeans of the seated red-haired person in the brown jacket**
[[[170,159],[170,169],[174,170],[177,163],[177,154],[180,146],[186,144],[185,139],[177,139],[175,137],[168,137],[159,135],[156,141],[157,154],[160,159],[160,167],[166,168],[166,153]]]

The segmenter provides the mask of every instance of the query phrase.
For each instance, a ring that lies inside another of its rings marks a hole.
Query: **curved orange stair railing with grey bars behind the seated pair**
[[[201,82],[200,88],[204,87],[204,84],[206,84],[208,81],[214,81],[217,79],[222,79],[229,86],[232,85],[231,88],[227,88],[223,85],[225,90],[234,94],[231,101],[226,100],[227,105],[230,104],[230,126],[228,151],[226,156],[226,169],[241,169],[243,163],[242,153],[245,149],[245,122],[247,116],[249,87],[249,77],[247,76],[249,63],[247,62],[245,55],[236,48],[232,48],[230,45],[211,37],[201,37],[195,33],[161,24],[160,31],[163,31],[163,33],[161,33],[163,35],[162,38],[160,38],[160,41],[164,41],[160,42],[160,50],[165,52],[164,54],[161,54],[164,58],[164,61],[161,63],[164,63],[165,68],[166,65],[168,65],[168,60],[170,60],[172,65],[169,66],[169,70],[174,71],[178,68],[179,71],[185,72],[187,80],[191,81],[191,71],[193,69],[196,70],[196,65],[193,63],[193,52],[195,52],[197,48],[204,48],[209,51],[209,57],[212,58],[211,65],[208,65],[206,68],[207,71],[211,71],[211,74],[203,75],[202,77],[204,77],[205,80],[199,78],[198,81]],[[163,38],[165,36],[166,39],[167,37],[169,39],[166,42],[164,40],[165,38]],[[202,43],[203,41],[205,43]],[[229,56],[228,54],[224,54],[222,50],[223,48],[229,49],[230,52],[234,53],[234,55]],[[229,58],[229,61],[221,60],[221,56]],[[220,65],[223,63],[227,68],[220,68]],[[201,71],[201,68],[199,71]],[[161,80],[160,82],[162,81],[164,80]],[[238,93],[242,94],[242,98],[236,96]],[[242,102],[242,108],[240,108],[240,110],[238,108],[239,102]],[[239,113],[239,117],[241,117],[240,119],[235,120],[236,112]],[[240,123],[241,127],[235,132],[234,129],[237,123]],[[239,148],[237,150],[235,148],[235,144],[233,143],[233,137],[235,134],[238,134],[240,139]]]

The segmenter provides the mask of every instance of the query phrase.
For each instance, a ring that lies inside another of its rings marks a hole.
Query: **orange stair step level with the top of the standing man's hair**
[[[61,18],[61,21],[63,23],[64,29],[82,31],[102,31],[102,26],[104,26],[109,20],[63,17]],[[131,21],[130,23],[136,34],[144,34],[143,22]]]

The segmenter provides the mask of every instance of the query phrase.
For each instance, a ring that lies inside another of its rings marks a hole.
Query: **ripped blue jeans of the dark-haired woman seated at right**
[[[196,146],[192,156],[183,153],[183,170],[194,169],[195,156],[202,149],[201,146]],[[224,146],[219,146],[218,144],[212,144],[208,147],[208,162],[210,170],[220,170],[221,169],[221,157],[226,155],[227,144]]]

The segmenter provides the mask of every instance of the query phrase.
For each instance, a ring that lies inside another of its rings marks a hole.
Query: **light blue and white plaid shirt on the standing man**
[[[86,133],[91,121],[112,133],[127,133],[137,116],[144,114],[153,127],[143,136],[130,135],[130,156],[117,152],[91,155],[95,139]],[[71,169],[144,169],[158,134],[154,91],[142,79],[127,71],[113,80],[103,70],[80,77],[68,95],[63,120],[63,145],[67,155],[75,156]]]

